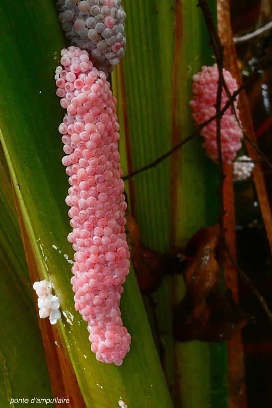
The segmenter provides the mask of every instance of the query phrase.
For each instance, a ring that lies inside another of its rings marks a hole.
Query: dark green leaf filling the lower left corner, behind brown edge
[[[52,391],[1,147],[0,180],[0,405],[4,407],[15,406],[12,398],[52,398]]]

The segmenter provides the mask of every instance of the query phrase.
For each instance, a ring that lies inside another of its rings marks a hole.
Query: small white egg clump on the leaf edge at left
[[[46,281],[36,281],[33,284],[33,289],[38,295],[39,316],[41,319],[49,317],[51,324],[56,324],[61,318],[59,311],[60,300],[58,296],[52,295],[52,284]]]

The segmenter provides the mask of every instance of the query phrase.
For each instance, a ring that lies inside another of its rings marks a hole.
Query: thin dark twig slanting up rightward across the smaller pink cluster
[[[271,58],[271,55],[265,55],[264,57],[262,57],[259,61],[259,63],[256,65],[255,69],[252,71],[252,73],[249,75],[249,77],[247,78],[247,80],[231,95],[231,97],[227,100],[225,106],[221,109],[219,115],[222,116],[226,110],[232,106],[234,100],[236,99],[236,97],[239,95],[239,93],[241,91],[243,91],[254,79],[255,77],[257,77],[257,75],[259,74],[259,69],[266,64],[266,62],[268,61],[268,59]],[[224,83],[223,83],[224,84]],[[185,143],[187,143],[189,140],[193,139],[194,136],[196,136],[205,126],[207,126],[209,123],[211,123],[213,120],[215,120],[217,117],[217,114],[215,114],[214,116],[212,116],[210,119],[206,120],[205,122],[201,123],[197,129],[192,132],[188,137],[186,137],[184,140],[181,140],[178,144],[176,144],[176,146],[174,146],[172,149],[170,149],[169,151],[167,151],[164,155],[158,157],[156,160],[154,160],[153,162],[148,163],[147,165],[141,167],[138,170],[132,171],[131,173],[125,175],[123,177],[123,180],[128,180],[131,177],[134,177],[135,175],[142,173],[143,171],[146,171],[150,168],[156,167],[160,162],[164,161],[166,158],[168,158],[169,156],[171,156],[176,150],[178,150],[179,148],[181,148]],[[265,160],[267,162],[267,158]],[[272,168],[272,163],[269,163],[269,167]]]

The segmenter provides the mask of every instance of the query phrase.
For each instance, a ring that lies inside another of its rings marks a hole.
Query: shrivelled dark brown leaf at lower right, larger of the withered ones
[[[186,294],[173,318],[173,335],[178,341],[224,341],[250,319],[233,300],[231,289],[220,291],[218,235],[218,226],[202,228],[188,244],[187,253],[193,258],[184,274]]]

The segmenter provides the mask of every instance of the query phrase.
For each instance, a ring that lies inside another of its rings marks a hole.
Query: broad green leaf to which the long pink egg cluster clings
[[[171,407],[133,272],[121,299],[131,351],[121,367],[97,362],[87,324],[74,310],[70,285],[73,251],[64,199],[68,181],[61,165],[58,124],[64,111],[55,96],[53,75],[64,39],[53,2],[20,2],[13,18],[1,5],[0,140],[41,278],[50,278],[61,299],[58,323],[86,406]],[[68,259],[67,259],[68,258]],[[50,368],[49,368],[50,369]]]

